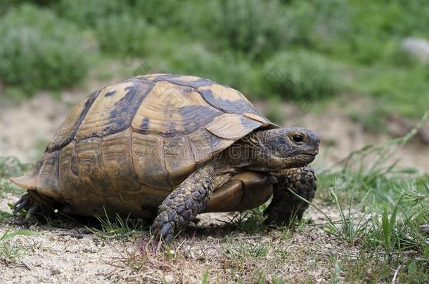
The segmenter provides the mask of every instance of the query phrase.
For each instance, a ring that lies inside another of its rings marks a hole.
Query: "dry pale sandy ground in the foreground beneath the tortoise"
[[[0,200],[0,210],[15,196]],[[5,202],[6,201],[6,202]],[[322,218],[311,210],[307,217]],[[168,252],[141,251],[141,238],[105,239],[89,234],[84,226],[67,229],[30,226],[37,236],[19,236],[9,242],[23,250],[12,263],[0,262],[0,283],[231,283],[257,282],[264,273],[270,283],[313,280],[326,283],[333,275],[331,257],[355,258],[357,248],[338,243],[314,226],[298,232],[266,231],[250,235],[231,231],[218,219],[225,214],[202,215],[202,221],[175,241]],[[2,225],[0,235],[27,228]],[[231,254],[227,249],[238,250]],[[262,256],[240,248],[266,248]]]

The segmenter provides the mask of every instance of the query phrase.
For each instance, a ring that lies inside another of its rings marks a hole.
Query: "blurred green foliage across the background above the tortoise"
[[[93,54],[84,34],[107,58],[136,57],[146,71],[207,77],[252,98],[354,93],[375,97],[380,115],[429,108],[428,68],[401,48],[409,36],[429,39],[427,0],[6,0],[0,15],[0,79],[11,85],[79,81],[79,56]],[[270,81],[273,70],[283,82]]]

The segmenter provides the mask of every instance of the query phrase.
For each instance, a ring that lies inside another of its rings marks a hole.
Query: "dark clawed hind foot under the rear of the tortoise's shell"
[[[21,210],[25,210],[25,219],[30,219],[36,213],[43,215],[53,213],[56,205],[58,205],[58,203],[53,201],[53,199],[41,196],[34,190],[28,190],[27,194],[23,195],[19,201],[13,204],[13,211],[18,213]]]

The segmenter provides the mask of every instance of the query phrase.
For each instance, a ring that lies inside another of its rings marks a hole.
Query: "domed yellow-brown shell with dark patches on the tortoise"
[[[257,128],[278,126],[237,90],[196,76],[152,74],[77,104],[32,172],[15,184],[76,214],[148,217],[196,168]]]

